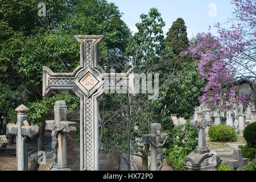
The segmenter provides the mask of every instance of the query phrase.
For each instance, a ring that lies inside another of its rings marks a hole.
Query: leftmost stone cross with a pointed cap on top
[[[27,171],[28,158],[27,158],[27,137],[33,139],[39,132],[37,125],[30,126],[27,122],[28,108],[20,105],[15,109],[17,111],[17,122],[9,123],[7,125],[7,134],[16,135],[16,156],[18,162],[18,171]]]

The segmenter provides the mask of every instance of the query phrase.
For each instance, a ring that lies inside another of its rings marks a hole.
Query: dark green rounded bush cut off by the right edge
[[[256,122],[250,123],[250,125],[245,127],[243,137],[245,138],[247,144],[256,147]]]

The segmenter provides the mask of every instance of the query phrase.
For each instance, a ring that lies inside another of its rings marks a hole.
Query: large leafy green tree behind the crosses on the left
[[[121,69],[126,60],[125,51],[130,30],[121,20],[122,14],[113,3],[97,0],[47,1],[46,16],[38,16],[38,1],[0,2],[0,89],[3,104],[9,102],[1,117],[12,110],[15,121],[17,104],[30,108],[31,122],[40,125],[38,151],[44,150],[45,119],[53,114],[56,100],[65,100],[68,108],[78,113],[79,102],[67,92],[56,92],[42,100],[42,67],[54,72],[72,72],[79,65],[79,44],[73,39],[77,34],[105,35],[100,47],[100,64],[108,71]],[[113,59],[122,60],[120,63]],[[115,64],[115,65],[114,65]],[[16,97],[20,94],[20,97]],[[66,94],[69,97],[63,97]],[[16,97],[18,100],[15,102]],[[11,98],[10,101],[6,100]],[[74,98],[69,101],[69,98]],[[21,102],[21,103],[20,103]],[[2,104],[1,103],[1,104]],[[1,105],[4,107],[3,105]],[[52,108],[51,108],[52,107]],[[38,169],[36,160],[30,169]]]

